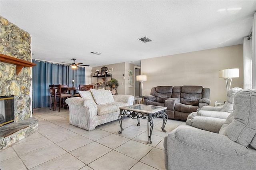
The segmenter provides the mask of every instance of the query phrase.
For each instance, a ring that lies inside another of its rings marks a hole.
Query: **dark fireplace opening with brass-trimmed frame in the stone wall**
[[[14,122],[14,96],[0,96],[0,127]]]

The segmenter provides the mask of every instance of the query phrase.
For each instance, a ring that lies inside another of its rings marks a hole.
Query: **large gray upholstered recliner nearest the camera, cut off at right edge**
[[[256,90],[237,92],[233,108],[218,133],[189,125],[172,130],[164,138],[166,169],[255,170]]]

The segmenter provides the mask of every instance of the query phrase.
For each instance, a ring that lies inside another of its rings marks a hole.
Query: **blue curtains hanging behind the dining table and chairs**
[[[61,84],[74,87],[85,84],[85,68],[77,67],[72,69],[68,65],[54,64],[33,59],[33,108],[49,107],[49,85]]]

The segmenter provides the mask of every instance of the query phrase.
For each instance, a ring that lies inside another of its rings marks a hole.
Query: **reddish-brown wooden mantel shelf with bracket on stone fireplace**
[[[10,57],[8,55],[0,54],[0,61],[4,63],[9,64],[15,64],[16,65],[16,74],[18,75],[23,67],[32,67],[33,65],[36,65],[35,63],[31,63],[29,61],[25,61],[22,59]]]

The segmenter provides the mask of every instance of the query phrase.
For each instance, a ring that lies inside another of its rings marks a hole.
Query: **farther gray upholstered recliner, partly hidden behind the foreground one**
[[[228,115],[230,115],[230,113],[233,111],[234,96],[240,90],[242,89],[239,87],[234,87],[228,90],[227,101],[225,102],[223,108],[204,106],[197,109],[196,112],[192,112],[190,115],[188,115],[186,125],[204,130],[210,128],[212,132],[218,133]],[[212,129],[212,125],[214,125],[214,130]]]

